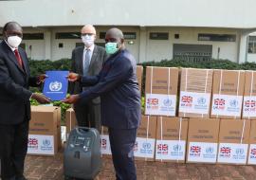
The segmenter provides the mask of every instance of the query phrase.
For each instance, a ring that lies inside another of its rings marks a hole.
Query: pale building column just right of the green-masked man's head
[[[147,61],[147,30],[146,27],[140,27],[139,48],[138,48],[138,63]]]

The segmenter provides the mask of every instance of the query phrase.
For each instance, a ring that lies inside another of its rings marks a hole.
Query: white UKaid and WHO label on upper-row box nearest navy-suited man
[[[162,94],[146,94],[145,114],[158,116],[175,116],[176,96]]]

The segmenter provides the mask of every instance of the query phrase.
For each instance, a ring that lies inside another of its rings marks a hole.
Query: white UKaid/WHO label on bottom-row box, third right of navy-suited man
[[[217,161],[218,144],[210,142],[190,142],[188,162],[215,163]]]

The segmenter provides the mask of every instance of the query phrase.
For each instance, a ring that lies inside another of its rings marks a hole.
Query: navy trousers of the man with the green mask
[[[117,180],[136,180],[133,148],[136,142],[137,128],[124,130],[109,128],[108,131]]]

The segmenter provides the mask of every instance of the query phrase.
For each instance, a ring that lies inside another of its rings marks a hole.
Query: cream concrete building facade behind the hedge
[[[0,28],[24,27],[23,47],[34,60],[70,58],[80,29],[93,24],[98,45],[119,27],[137,62],[171,60],[256,62],[253,0],[21,0],[0,1]],[[255,45],[255,47],[254,47]]]

